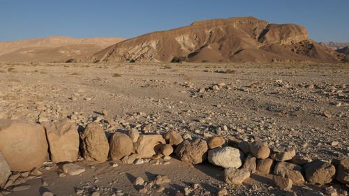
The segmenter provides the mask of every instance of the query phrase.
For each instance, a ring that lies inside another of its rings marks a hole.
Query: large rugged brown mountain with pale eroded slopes
[[[232,17],[144,34],[77,61],[340,62],[347,57],[315,43],[300,25]]]

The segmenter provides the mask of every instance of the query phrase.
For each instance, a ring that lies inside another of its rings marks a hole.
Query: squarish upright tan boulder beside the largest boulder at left
[[[43,123],[54,163],[73,162],[79,153],[79,133],[77,126],[68,120]]]

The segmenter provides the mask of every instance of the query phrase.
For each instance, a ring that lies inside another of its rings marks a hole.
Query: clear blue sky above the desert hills
[[[0,41],[43,36],[132,38],[195,20],[252,15],[349,42],[349,0],[0,0]]]

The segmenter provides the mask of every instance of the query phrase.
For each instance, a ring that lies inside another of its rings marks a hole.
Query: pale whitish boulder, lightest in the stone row
[[[209,163],[224,168],[239,168],[244,160],[244,153],[233,147],[221,147],[209,150]]]

